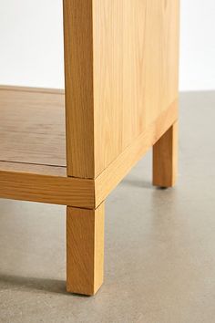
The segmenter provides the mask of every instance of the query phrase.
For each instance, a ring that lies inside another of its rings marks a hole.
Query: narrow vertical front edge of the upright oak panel
[[[67,175],[95,177],[92,0],[64,0]]]

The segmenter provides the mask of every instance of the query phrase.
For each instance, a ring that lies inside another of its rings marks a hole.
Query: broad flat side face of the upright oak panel
[[[94,0],[96,177],[178,97],[179,0]]]

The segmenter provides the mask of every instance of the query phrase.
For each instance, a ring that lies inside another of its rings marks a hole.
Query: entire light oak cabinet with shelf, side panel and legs
[[[93,295],[107,195],[151,147],[176,181],[179,0],[63,5],[66,92],[0,88],[0,196],[67,205],[67,291]]]

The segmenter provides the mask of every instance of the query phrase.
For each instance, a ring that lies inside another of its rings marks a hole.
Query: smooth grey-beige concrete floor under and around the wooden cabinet
[[[179,182],[151,154],[107,200],[105,284],[65,292],[65,208],[0,201],[1,323],[215,322],[215,92],[180,96]]]

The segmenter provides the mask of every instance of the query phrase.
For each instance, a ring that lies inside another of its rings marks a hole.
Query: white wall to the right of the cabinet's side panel
[[[180,3],[180,89],[215,89],[215,0]]]

